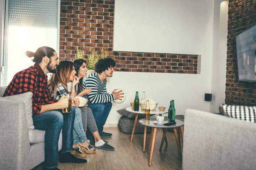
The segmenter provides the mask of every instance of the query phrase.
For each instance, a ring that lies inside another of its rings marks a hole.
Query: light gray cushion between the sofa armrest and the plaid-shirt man
[[[25,104],[26,120],[28,129],[35,129],[32,119],[32,92],[17,94],[13,96],[0,97],[0,100],[20,100]],[[15,106],[14,106],[15,107]]]

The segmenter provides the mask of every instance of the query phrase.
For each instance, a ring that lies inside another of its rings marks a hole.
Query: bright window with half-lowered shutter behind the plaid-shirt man
[[[58,53],[59,0],[6,1],[4,74],[1,85],[8,85],[13,76],[34,65],[26,51],[35,52],[49,46]]]

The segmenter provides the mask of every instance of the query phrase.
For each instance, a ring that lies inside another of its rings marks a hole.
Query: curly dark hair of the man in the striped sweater
[[[102,73],[108,70],[108,68],[115,67],[116,62],[111,58],[100,59],[95,65],[95,72]]]

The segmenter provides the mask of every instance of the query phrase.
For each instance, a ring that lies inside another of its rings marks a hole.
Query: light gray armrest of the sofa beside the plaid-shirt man
[[[23,101],[0,100],[0,169],[25,170],[29,134]]]

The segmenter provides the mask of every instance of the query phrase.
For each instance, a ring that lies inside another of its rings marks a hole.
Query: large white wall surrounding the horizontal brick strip
[[[116,0],[114,50],[201,55],[201,74],[114,72],[108,92],[122,88],[126,100],[113,103],[107,124],[116,124],[116,110],[130,106],[139,91],[159,106],[175,100],[176,114],[186,108],[209,111],[211,93],[214,0]]]

